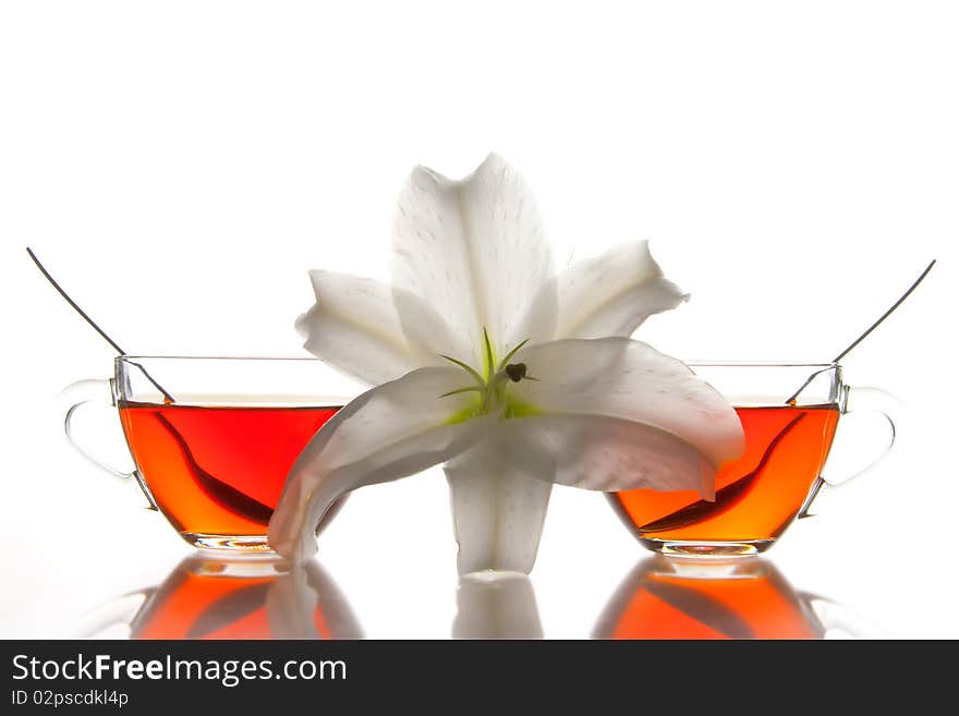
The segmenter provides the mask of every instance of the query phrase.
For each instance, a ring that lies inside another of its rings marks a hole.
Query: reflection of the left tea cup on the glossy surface
[[[315,561],[193,555],[157,587],[88,615],[84,636],[130,639],[362,639],[350,605]]]

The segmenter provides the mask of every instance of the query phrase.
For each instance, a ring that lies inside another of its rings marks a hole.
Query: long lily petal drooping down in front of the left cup
[[[340,496],[421,472],[473,445],[490,421],[450,421],[469,408],[472,393],[440,397],[468,383],[459,368],[420,368],[366,391],[333,415],[287,476],[269,524],[270,546],[303,561],[316,551],[316,525]]]

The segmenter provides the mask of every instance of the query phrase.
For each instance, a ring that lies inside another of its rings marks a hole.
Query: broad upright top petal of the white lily
[[[393,222],[393,282],[442,312],[472,350],[456,357],[483,365],[484,327],[499,355],[532,328],[551,335],[555,300],[529,314],[551,274],[532,193],[502,159],[490,155],[462,181],[413,170]]]

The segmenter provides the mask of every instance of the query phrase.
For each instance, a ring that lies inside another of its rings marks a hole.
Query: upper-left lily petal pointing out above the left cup
[[[348,375],[376,385],[461,352],[446,321],[422,299],[372,279],[309,271],[316,303],[296,320],[303,347]],[[406,316],[404,330],[399,313]]]

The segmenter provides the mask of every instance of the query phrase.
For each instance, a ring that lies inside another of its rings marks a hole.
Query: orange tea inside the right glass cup
[[[838,408],[775,405],[736,412],[745,433],[745,452],[720,466],[715,502],[702,500],[694,490],[609,495],[638,536],[663,542],[773,541],[796,518],[826,461]]]

